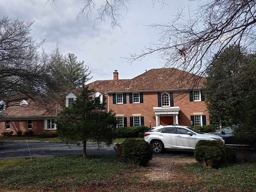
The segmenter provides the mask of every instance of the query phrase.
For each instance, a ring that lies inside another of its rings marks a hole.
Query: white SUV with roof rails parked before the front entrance
[[[152,127],[144,133],[144,140],[147,141],[154,153],[161,153],[164,149],[190,149],[195,150],[196,143],[201,140],[221,140],[222,137],[209,133],[201,133],[191,127],[183,125],[164,125]]]

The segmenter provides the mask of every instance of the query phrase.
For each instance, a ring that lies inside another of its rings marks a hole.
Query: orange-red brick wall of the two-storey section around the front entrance
[[[174,92],[174,107],[180,107],[179,124],[190,126],[190,116],[195,112],[201,112],[206,115],[206,124],[209,124],[206,105],[204,101],[189,101],[189,94]],[[126,104],[113,104],[113,96],[109,94],[109,110],[112,109],[116,114],[124,114],[127,117],[127,126],[130,126],[130,117],[132,114],[141,114],[144,116],[144,125],[149,127],[156,126],[156,115],[153,107],[158,107],[157,92],[143,92],[143,103],[129,103],[129,93],[126,93]]]

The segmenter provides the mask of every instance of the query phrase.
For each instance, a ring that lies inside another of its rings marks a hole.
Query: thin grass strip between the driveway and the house
[[[0,141],[20,141],[20,140],[40,140],[40,141],[61,141],[59,137],[54,138],[39,138],[38,136],[9,136],[9,137],[0,137]],[[125,138],[116,138],[114,143],[122,143]],[[88,142],[91,142],[88,140]]]

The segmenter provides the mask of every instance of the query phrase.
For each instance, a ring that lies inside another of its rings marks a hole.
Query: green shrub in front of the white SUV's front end
[[[194,156],[196,161],[208,168],[236,161],[235,149],[226,147],[219,140],[203,140],[197,143]]]

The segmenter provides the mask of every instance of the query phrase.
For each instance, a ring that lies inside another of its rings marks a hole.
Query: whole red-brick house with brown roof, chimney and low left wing
[[[87,85],[95,90],[93,96],[106,103],[106,110],[114,110],[117,127],[149,127],[150,121],[152,126],[190,126],[191,121],[193,125],[210,123],[201,91],[204,78],[175,68],[151,69],[132,79],[118,79],[117,70],[113,74],[113,80],[98,80]],[[59,102],[45,107],[23,100],[20,106],[6,108],[3,112],[8,115],[0,121],[0,132],[55,131],[58,112],[74,102],[76,94],[79,91],[73,90],[60,96]]]

